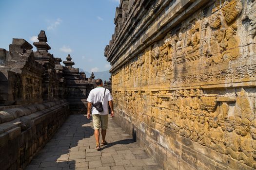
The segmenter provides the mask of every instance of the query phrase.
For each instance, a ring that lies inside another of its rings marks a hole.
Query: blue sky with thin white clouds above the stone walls
[[[119,0],[0,0],[0,48],[9,51],[12,38],[33,44],[44,30],[54,57],[65,61],[71,54],[76,68],[109,70],[103,52],[118,5]]]

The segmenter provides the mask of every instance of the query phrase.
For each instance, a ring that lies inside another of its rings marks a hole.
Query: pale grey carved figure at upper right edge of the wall
[[[247,0],[246,0],[247,1]],[[249,19],[249,27],[247,32],[247,44],[249,48],[249,56],[255,53],[255,35],[256,35],[256,0],[248,0],[243,20]]]

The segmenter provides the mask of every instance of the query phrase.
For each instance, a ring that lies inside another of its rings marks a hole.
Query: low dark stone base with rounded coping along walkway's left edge
[[[69,116],[69,103],[0,107],[1,170],[22,170]]]

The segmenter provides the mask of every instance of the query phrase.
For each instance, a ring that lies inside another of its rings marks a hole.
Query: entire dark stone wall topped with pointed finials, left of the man
[[[94,75],[73,68],[49,53],[44,31],[35,42],[13,39],[0,49],[0,169],[22,170],[54,135],[70,113],[85,114]]]

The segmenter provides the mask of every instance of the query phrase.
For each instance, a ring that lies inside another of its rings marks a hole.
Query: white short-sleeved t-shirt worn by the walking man
[[[102,102],[103,95],[104,95],[104,90],[105,90],[105,88],[103,88],[103,87],[96,87],[96,88],[92,89],[90,91],[90,94],[89,94],[88,98],[87,98],[87,102],[92,102],[92,104],[94,104],[96,102]],[[92,115],[96,115],[96,114],[107,115],[109,113],[108,101],[112,101],[112,100],[113,100],[113,98],[111,96],[111,93],[110,93],[109,89],[106,89],[105,97],[104,97],[104,100],[102,102],[103,111],[98,112],[98,110],[94,106],[92,106],[93,107]]]

